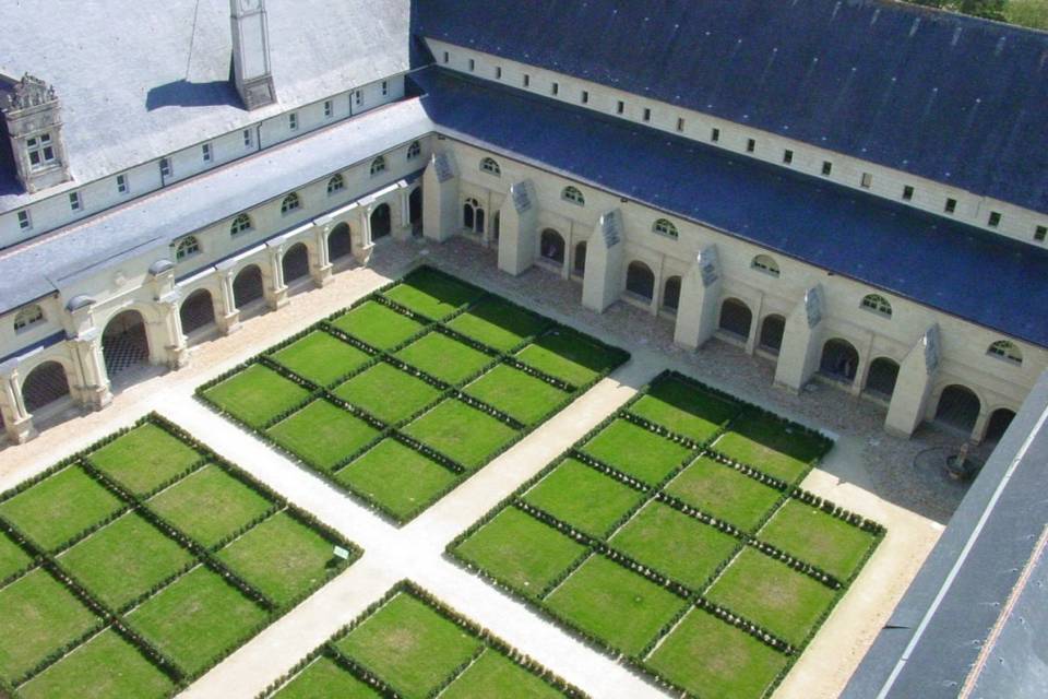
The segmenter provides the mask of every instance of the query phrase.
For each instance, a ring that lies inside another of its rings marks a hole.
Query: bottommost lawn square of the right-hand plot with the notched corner
[[[786,655],[702,609],[692,609],[646,665],[703,699],[762,699]]]

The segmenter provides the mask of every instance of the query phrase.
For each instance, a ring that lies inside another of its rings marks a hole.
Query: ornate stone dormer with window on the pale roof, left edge
[[[71,179],[62,120],[55,88],[26,73],[8,93],[0,93],[19,180],[36,192]]]

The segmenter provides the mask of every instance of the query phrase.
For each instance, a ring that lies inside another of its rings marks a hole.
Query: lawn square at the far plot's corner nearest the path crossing
[[[429,457],[392,438],[341,469],[335,478],[381,503],[400,522],[436,501],[458,479]]]

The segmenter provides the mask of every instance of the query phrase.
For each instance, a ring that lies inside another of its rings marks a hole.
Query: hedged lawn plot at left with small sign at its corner
[[[146,416],[0,495],[0,696],[171,696],[359,555]]]

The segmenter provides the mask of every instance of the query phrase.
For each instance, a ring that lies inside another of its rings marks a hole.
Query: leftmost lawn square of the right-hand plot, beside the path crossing
[[[534,599],[584,553],[585,546],[515,507],[499,512],[455,548],[460,558]]]

